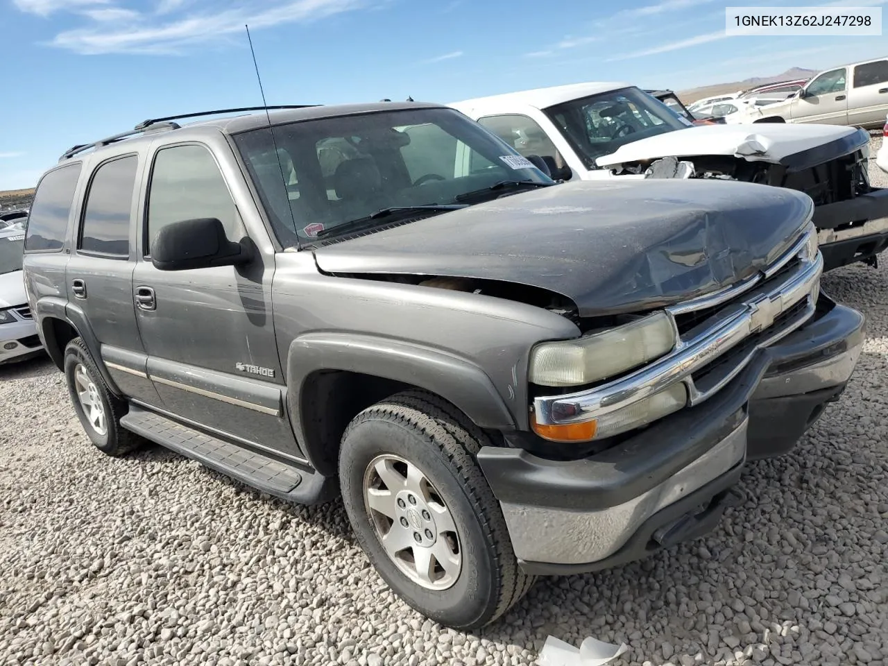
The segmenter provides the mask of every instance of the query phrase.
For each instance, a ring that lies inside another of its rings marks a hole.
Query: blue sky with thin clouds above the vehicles
[[[888,55],[886,36],[726,37],[725,6],[888,0],[0,0],[0,190],[136,123],[261,103],[449,102],[581,81],[686,88]]]

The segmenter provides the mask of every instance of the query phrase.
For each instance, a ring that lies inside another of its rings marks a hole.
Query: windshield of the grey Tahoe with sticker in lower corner
[[[274,127],[274,141],[265,127],[235,136],[234,143],[284,247],[314,244],[318,234],[336,235],[337,226],[380,210],[493,199],[504,188],[488,188],[503,181],[516,190],[524,185],[513,181],[552,183],[501,139],[448,108],[289,123]]]

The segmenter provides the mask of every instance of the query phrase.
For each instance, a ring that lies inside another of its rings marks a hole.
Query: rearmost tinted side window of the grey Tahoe
[[[28,215],[25,250],[61,250],[80,168],[79,162],[67,164],[50,171],[40,181]]]

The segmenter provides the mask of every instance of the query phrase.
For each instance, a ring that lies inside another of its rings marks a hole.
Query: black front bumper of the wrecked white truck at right
[[[814,209],[823,270],[874,258],[888,248],[888,188]]]

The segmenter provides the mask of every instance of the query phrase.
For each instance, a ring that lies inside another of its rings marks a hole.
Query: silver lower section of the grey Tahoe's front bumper
[[[618,551],[647,519],[729,472],[746,456],[748,419],[724,440],[627,502],[595,511],[501,503],[519,560],[587,565]],[[581,464],[581,463],[577,463]],[[618,473],[618,472],[614,472]]]

